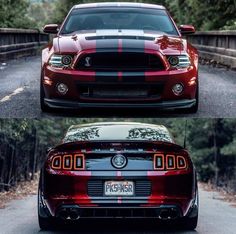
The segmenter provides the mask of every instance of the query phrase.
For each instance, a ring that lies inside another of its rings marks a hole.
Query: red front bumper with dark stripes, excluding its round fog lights
[[[195,68],[158,72],[82,72],[56,70],[45,66],[42,84],[44,102],[51,108],[127,107],[185,109],[196,103],[198,76]],[[57,85],[68,92],[61,95]],[[172,89],[181,83],[184,91],[176,96]]]

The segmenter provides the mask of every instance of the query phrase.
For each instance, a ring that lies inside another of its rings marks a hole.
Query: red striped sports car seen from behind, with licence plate
[[[89,218],[149,218],[195,229],[196,171],[164,126],[72,126],[41,170],[38,215],[41,229]]]

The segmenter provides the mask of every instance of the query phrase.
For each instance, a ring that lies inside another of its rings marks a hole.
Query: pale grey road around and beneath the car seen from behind
[[[1,234],[66,234],[66,233],[124,233],[124,234],[235,234],[236,230],[236,207],[218,199],[216,192],[206,192],[200,190],[200,217],[196,231],[175,231],[161,228],[158,225],[151,227],[140,226],[130,223],[116,223],[116,225],[98,225],[89,223],[85,226],[75,226],[73,229],[63,229],[57,231],[40,231],[37,222],[37,197],[30,196],[23,200],[12,201],[5,209],[0,209],[0,233]],[[119,227],[117,226],[119,225]]]

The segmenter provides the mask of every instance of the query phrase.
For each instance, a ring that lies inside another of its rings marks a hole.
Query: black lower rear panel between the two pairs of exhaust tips
[[[158,212],[153,208],[85,208],[81,218],[156,218]]]

